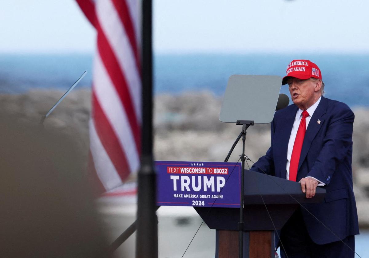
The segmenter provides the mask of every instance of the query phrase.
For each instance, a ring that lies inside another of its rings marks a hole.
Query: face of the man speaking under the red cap
[[[318,79],[301,80],[291,77],[287,84],[293,103],[300,109],[310,108],[321,96],[321,81]]]

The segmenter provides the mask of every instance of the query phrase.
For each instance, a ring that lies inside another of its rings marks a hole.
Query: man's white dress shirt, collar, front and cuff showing
[[[317,102],[315,102],[310,108],[306,109],[306,111],[308,112],[308,116],[305,118],[306,121],[306,129],[307,126],[309,125],[311,116],[313,116],[315,109],[317,109],[319,102],[321,100],[322,97],[320,97]],[[300,126],[300,122],[301,122],[301,118],[302,118],[302,109],[298,109],[296,112],[296,116],[295,116],[295,120],[293,122],[293,126],[292,126],[292,130],[291,130],[291,135],[290,135],[290,140],[288,141],[288,148],[287,148],[287,164],[286,164],[286,179],[289,178],[290,175],[290,161],[291,161],[291,155],[292,155],[292,149],[293,149],[293,144],[295,142],[295,138],[297,135],[297,129],[299,129]],[[311,177],[314,178],[314,177]],[[323,182],[319,181],[318,179],[314,178],[315,180],[318,181],[318,186],[323,186],[325,185]]]

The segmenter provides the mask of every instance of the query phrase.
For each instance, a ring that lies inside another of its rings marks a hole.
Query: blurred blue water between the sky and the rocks
[[[309,59],[320,67],[326,97],[350,107],[369,106],[368,55],[155,55],[155,94],[208,90],[223,95],[232,74],[284,76],[293,59]],[[0,93],[30,88],[67,90],[87,70],[77,87],[90,87],[92,55],[0,55]],[[288,94],[286,86],[281,93]]]

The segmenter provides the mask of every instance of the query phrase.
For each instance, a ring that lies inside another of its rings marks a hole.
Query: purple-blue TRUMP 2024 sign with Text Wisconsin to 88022
[[[155,161],[157,205],[239,208],[241,164]]]

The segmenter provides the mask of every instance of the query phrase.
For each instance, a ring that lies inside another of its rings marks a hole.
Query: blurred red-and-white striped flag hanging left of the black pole
[[[137,172],[141,152],[138,1],[76,0],[97,31],[90,158],[104,191]]]

